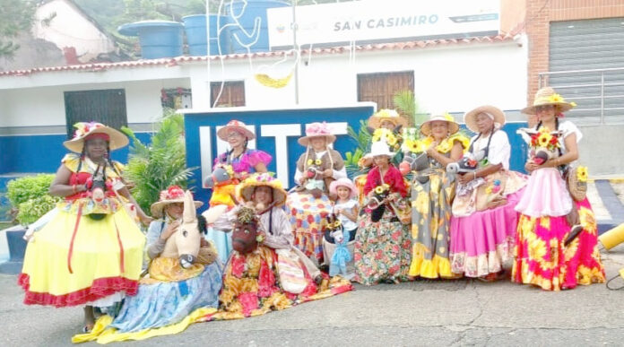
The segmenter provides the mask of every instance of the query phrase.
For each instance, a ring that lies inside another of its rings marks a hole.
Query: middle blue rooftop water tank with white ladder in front
[[[221,44],[221,54],[226,55],[231,53],[230,47],[230,28],[221,30],[221,35],[217,39],[217,24],[221,28],[228,23],[227,16],[211,14],[210,15],[210,55],[219,55],[219,46]],[[184,30],[186,31],[186,43],[188,44],[188,54],[190,56],[206,56],[207,55],[207,42],[206,42],[206,15],[194,14],[187,15],[182,18],[184,22]]]

